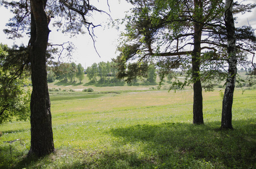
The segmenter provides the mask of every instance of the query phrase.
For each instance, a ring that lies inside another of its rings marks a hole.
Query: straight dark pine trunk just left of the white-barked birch
[[[195,11],[202,8],[201,1],[194,1]],[[194,14],[196,20],[201,20],[200,14]],[[199,15],[199,16],[198,16]],[[202,25],[194,23],[194,49],[192,52],[192,78],[193,78],[193,124],[203,124],[203,96],[200,79],[200,57],[201,57],[201,35]]]

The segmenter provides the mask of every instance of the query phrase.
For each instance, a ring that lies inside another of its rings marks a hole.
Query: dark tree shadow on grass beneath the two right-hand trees
[[[138,124],[111,129],[110,134],[122,140],[113,146],[143,143],[140,144],[142,152],[154,154],[159,161],[170,164],[168,167],[173,167],[173,160],[179,163],[181,158],[212,164],[221,162],[223,167],[231,168],[255,167],[256,132],[252,132],[251,127],[256,128],[256,124],[248,124],[248,120],[234,121],[234,124],[242,127],[219,130],[211,127],[218,126],[216,123],[211,122],[207,126],[187,123]]]

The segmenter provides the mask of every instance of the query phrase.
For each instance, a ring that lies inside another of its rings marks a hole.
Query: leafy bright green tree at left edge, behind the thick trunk
[[[0,44],[0,124],[14,117],[17,121],[29,119],[31,90],[24,88],[29,84],[28,66],[19,64],[24,56],[28,54],[23,49]]]

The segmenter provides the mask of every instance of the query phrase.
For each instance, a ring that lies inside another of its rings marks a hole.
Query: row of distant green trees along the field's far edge
[[[84,70],[81,64],[75,63],[59,63],[49,67],[47,74],[48,82],[54,82],[55,79],[65,82],[75,82],[75,78],[79,79],[80,83],[84,79],[84,74],[87,74],[90,82],[99,83],[116,83],[120,81],[128,84],[135,84],[138,81],[155,84],[157,74],[161,78],[161,71],[158,70],[153,63],[124,63],[123,71],[118,69],[120,66],[113,59],[111,62],[94,63]],[[122,73],[122,75],[120,75]],[[172,75],[167,75],[168,81],[171,81]]]

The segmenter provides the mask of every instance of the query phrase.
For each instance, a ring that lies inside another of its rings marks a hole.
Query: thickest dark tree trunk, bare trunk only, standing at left
[[[46,0],[31,0],[31,149],[28,155],[54,152],[50,97],[47,86],[46,48],[49,37]]]

